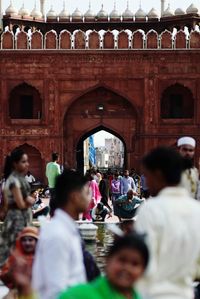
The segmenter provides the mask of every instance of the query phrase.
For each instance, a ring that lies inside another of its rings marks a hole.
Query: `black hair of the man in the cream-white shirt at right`
[[[181,155],[170,147],[158,147],[143,158],[143,165],[149,171],[161,171],[166,183],[178,185],[183,171]]]

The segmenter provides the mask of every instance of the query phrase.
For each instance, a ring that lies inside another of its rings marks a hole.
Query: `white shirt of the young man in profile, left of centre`
[[[33,289],[39,299],[55,299],[61,290],[86,281],[81,238],[74,220],[57,209],[41,228],[33,265]]]

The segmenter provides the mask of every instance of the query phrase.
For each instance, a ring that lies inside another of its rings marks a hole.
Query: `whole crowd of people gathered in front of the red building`
[[[127,170],[123,176],[94,171],[83,176],[61,171],[53,154],[46,168],[51,219],[40,231],[31,226],[34,210],[44,207],[25,179],[28,156],[21,149],[13,151],[5,163],[7,208],[0,233],[0,279],[11,290],[7,298],[199,299],[194,288],[200,279],[195,148],[193,138],[183,137],[177,149],[158,147],[144,156],[145,202],[141,181]],[[113,229],[101,274],[76,220],[82,215],[104,221],[113,212],[130,221]]]

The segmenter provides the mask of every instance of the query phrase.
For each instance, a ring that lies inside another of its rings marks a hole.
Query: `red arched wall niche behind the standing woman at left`
[[[29,144],[20,145],[19,148],[28,155],[29,158],[29,170],[31,174],[39,181],[43,181],[44,178],[44,161],[41,157],[41,153],[37,148]]]

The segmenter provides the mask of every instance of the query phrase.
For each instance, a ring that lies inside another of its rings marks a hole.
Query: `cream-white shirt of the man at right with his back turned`
[[[193,299],[200,270],[200,204],[181,187],[163,189],[141,206],[136,231],[147,234],[150,263],[141,284],[149,299]]]

